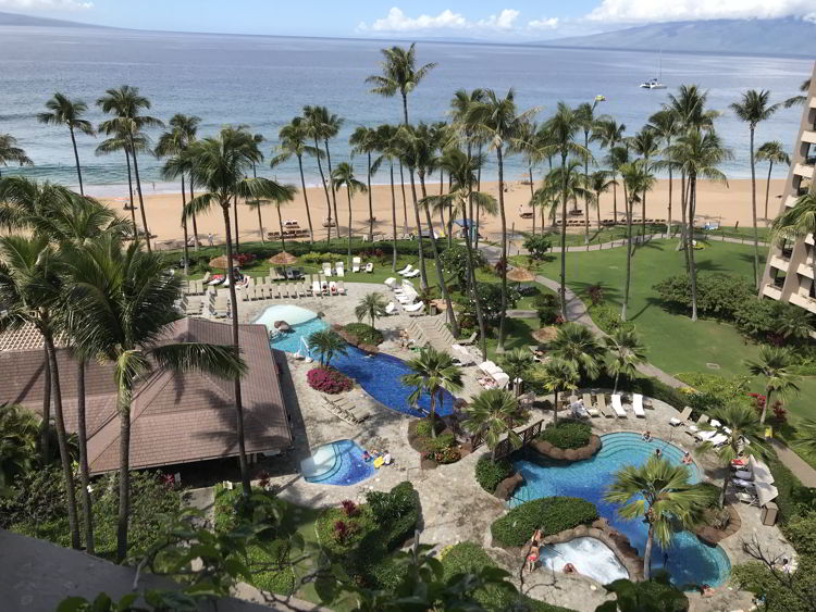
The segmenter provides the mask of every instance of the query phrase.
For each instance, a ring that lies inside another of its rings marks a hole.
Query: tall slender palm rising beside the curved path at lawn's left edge
[[[561,158],[561,315],[567,319],[567,197],[569,187],[569,172],[567,159],[576,155],[581,160],[590,158],[586,147],[576,142],[576,136],[581,128],[581,115],[565,102],[558,102],[558,110],[547,122],[547,132],[552,143],[547,145],[542,154],[559,155]]]

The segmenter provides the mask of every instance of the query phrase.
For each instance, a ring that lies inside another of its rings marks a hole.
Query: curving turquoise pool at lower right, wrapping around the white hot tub
[[[551,496],[579,497],[593,502],[598,514],[609,524],[625,534],[632,546],[642,555],[645,550],[647,527],[642,520],[625,521],[618,516],[616,503],[604,501],[607,487],[614,474],[623,465],[642,465],[654,454],[655,448],[660,448],[663,457],[672,464],[682,463],[683,451],[665,440],[654,439],[644,442],[640,434],[617,433],[602,436],[601,450],[586,461],[564,464],[544,459],[537,454],[532,459],[533,451],[528,457],[514,462],[516,470],[524,477],[524,484],[516,491],[510,500],[511,505],[524,501]],[[690,465],[690,480],[701,480],[700,471]],[[671,575],[671,582],[678,586],[701,585],[718,586],[728,579],[731,564],[720,547],[709,547],[689,532],[675,535],[668,552],[666,570]],[[652,552],[652,569],[663,567],[663,553],[657,542]]]

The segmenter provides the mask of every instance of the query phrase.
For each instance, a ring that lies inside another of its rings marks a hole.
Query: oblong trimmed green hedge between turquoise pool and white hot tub
[[[491,525],[493,539],[502,546],[523,546],[535,529],[552,536],[597,519],[594,503],[577,497],[545,497],[517,505]]]

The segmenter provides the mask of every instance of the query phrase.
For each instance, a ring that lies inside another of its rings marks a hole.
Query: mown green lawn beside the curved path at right
[[[632,321],[647,347],[647,359],[669,374],[706,372],[722,376],[744,375],[745,359],[755,358],[758,346],[733,326],[716,321],[693,323],[688,316],[671,314],[657,301],[652,287],[659,280],[683,271],[683,253],[675,250],[676,240],[656,240],[640,248],[632,258],[632,284],[628,319]],[[701,273],[725,272],[752,276],[752,248],[712,241],[694,252]],[[524,258],[527,259],[527,258]],[[536,266],[549,278],[560,274],[560,255]],[[579,293],[590,285],[601,284],[608,303],[620,307],[626,279],[626,249],[585,253],[567,253],[567,284]],[[717,369],[707,364],[716,364]],[[754,382],[755,390],[762,384]],[[802,392],[788,407],[802,416],[812,405],[816,380],[805,379]]]

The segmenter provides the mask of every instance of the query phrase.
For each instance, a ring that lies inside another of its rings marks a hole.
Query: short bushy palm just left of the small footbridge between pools
[[[491,460],[496,461],[496,447],[502,436],[514,448],[521,446],[521,438],[514,430],[514,423],[521,419],[519,402],[505,389],[487,389],[475,396],[465,410],[462,428],[473,436],[480,436],[491,450]]]

